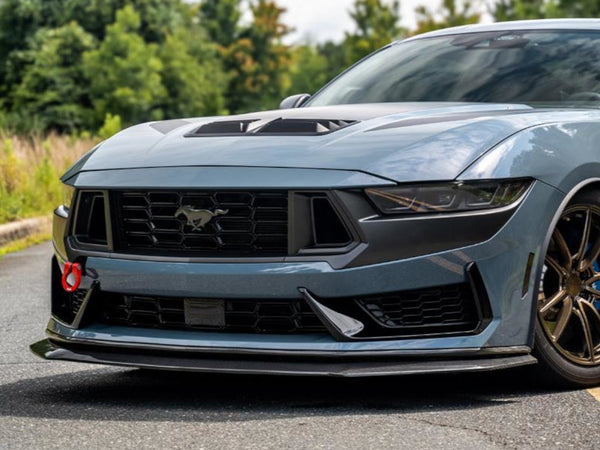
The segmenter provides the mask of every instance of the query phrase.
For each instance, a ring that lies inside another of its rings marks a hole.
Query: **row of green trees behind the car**
[[[497,20],[600,15],[597,0],[415,1],[409,31],[400,1],[354,0],[340,42],[289,46],[278,0],[0,0],[0,127],[106,135],[274,108],[396,39],[476,23],[484,5]]]

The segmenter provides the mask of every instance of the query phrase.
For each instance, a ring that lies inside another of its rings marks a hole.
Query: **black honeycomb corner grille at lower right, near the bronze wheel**
[[[480,320],[467,283],[378,295],[359,299],[358,303],[378,324],[394,333],[470,331]]]

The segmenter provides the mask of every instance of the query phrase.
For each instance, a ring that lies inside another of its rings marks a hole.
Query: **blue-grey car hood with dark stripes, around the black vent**
[[[151,122],[106,140],[63,179],[80,171],[217,166],[347,170],[397,182],[449,180],[507,137],[563,120],[565,114],[577,113],[525,105],[390,103]],[[193,135],[215,122],[266,124],[280,119],[334,123],[334,131],[232,135],[212,127]]]

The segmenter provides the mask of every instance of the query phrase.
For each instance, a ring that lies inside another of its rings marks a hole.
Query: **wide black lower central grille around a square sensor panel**
[[[224,319],[214,326],[190,323],[186,302],[193,300],[102,293],[97,301],[99,319],[112,325],[280,334],[325,331],[303,300],[211,300],[221,303]]]

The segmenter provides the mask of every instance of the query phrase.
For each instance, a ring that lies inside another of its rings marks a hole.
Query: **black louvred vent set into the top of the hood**
[[[211,122],[186,134],[186,137],[208,136],[320,136],[332,133],[356,120],[339,119],[269,119],[225,120]]]

